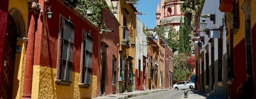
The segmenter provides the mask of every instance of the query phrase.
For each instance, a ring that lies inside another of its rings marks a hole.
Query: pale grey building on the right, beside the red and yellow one
[[[224,13],[216,10],[219,5],[218,2],[204,1],[199,29],[203,31],[198,37],[200,39],[196,39],[196,45],[200,48],[196,60],[196,75],[200,80],[197,80],[196,84],[203,93],[208,95],[214,93],[221,98],[226,98],[226,30],[223,25]]]

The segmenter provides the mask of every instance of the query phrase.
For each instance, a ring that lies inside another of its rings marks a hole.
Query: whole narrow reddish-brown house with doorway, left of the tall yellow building
[[[118,93],[118,42],[120,23],[113,13],[104,10],[106,29],[101,34],[100,67],[97,87],[101,95]]]

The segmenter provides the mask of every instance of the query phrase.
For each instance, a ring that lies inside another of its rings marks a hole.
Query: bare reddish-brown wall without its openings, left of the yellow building
[[[102,32],[101,43],[106,43],[108,48],[106,49],[107,56],[106,56],[106,68],[105,68],[105,95],[115,94],[118,91],[118,46],[117,43],[119,42],[119,30],[118,27],[120,23],[116,20],[116,17],[113,14],[108,13],[108,11],[103,11],[103,20],[106,22],[107,29],[113,29],[113,32]],[[113,56],[116,58],[116,84],[113,84]],[[101,60],[103,60],[101,58]],[[100,62],[101,62],[100,60]],[[100,63],[100,68],[102,68],[102,64]],[[98,76],[100,76],[100,70]],[[98,77],[98,83],[100,83],[100,77]],[[100,84],[98,87],[97,93],[100,93]]]

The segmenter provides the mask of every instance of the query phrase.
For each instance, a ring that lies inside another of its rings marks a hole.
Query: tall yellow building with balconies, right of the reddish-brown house
[[[118,1],[118,21],[119,27],[119,93],[133,91],[135,89],[135,32],[136,13],[138,11],[133,6],[132,1]]]

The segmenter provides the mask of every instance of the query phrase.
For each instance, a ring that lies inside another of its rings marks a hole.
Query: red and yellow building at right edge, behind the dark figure
[[[245,82],[246,70],[253,74],[255,98],[255,1],[221,1],[227,25],[227,96],[237,98],[236,89]]]

